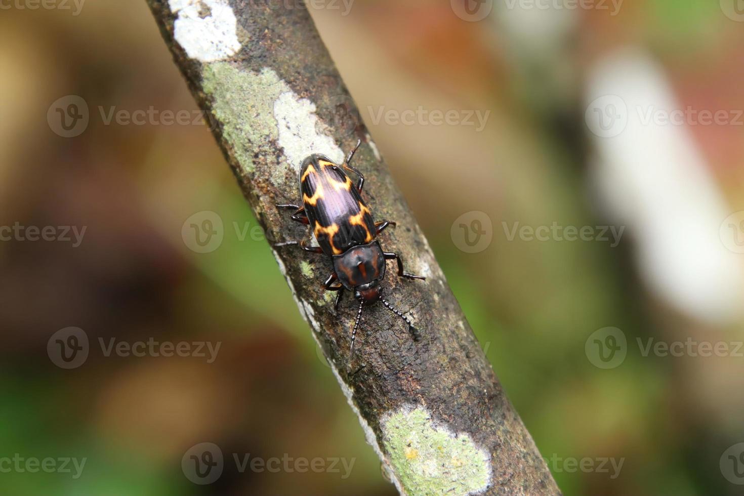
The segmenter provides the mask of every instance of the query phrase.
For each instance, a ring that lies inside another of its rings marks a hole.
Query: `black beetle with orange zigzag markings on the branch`
[[[344,290],[353,292],[359,301],[359,310],[351,332],[349,361],[353,356],[362,309],[378,301],[402,318],[408,324],[414,340],[418,339],[418,331],[413,323],[382,297],[380,283],[385,277],[385,263],[388,260],[397,261],[398,277],[426,279],[403,271],[403,261],[398,254],[382,251],[382,246],[376,239],[385,228],[391,225],[395,227],[396,223],[388,220],[374,222],[370,208],[362,199],[365,176],[351,165],[361,144],[362,140],[356,142],[356,146],[340,166],[318,153],[305,158],[300,168],[302,205],[277,205],[279,208],[295,210],[292,220],[309,225],[318,246],[308,246],[305,241],[289,241],[275,246],[299,245],[304,251],[329,255],[333,260],[333,273],[325,280],[324,288],[339,293],[334,307],[339,309]],[[358,177],[356,184],[353,184],[347,172]]]

